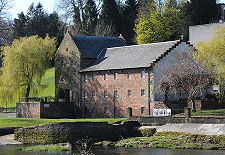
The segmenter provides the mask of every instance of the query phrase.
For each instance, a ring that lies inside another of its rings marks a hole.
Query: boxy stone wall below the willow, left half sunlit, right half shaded
[[[78,109],[69,102],[20,102],[16,103],[16,117],[21,118],[71,118]]]

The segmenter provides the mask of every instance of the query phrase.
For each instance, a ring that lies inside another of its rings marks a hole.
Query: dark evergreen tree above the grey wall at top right
[[[191,0],[191,20],[193,25],[208,24],[216,20],[216,0]]]

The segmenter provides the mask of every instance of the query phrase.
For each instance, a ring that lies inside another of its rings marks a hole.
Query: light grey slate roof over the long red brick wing
[[[150,67],[179,41],[107,48],[81,72]]]

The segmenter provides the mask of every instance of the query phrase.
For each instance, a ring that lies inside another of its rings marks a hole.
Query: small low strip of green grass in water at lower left
[[[70,147],[60,145],[36,145],[36,146],[19,147],[17,148],[17,150],[29,152],[43,152],[43,151],[61,152],[61,151],[70,151],[71,149]]]

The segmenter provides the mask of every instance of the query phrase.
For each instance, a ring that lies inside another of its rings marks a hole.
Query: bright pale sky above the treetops
[[[53,10],[55,10],[55,8],[56,8],[56,0],[14,0],[14,2],[12,3],[13,7],[9,10],[11,18],[12,19],[16,18],[17,14],[22,11],[26,14],[26,12],[32,2],[34,2],[35,5],[37,5],[38,2],[41,2],[44,9],[48,13],[52,13]],[[220,0],[220,2],[225,3],[225,0]]]

